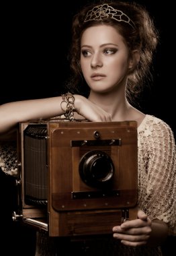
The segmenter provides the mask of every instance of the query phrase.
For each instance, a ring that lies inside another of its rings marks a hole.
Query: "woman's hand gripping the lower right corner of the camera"
[[[120,239],[124,245],[137,247],[146,245],[152,232],[152,221],[144,212],[138,211],[138,219],[129,220],[120,226],[114,226],[114,238]]]

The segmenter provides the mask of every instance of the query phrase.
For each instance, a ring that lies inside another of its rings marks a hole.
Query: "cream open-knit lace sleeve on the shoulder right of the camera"
[[[153,117],[138,133],[138,200],[152,219],[176,228],[175,139],[171,128]],[[176,229],[175,229],[176,232]]]

